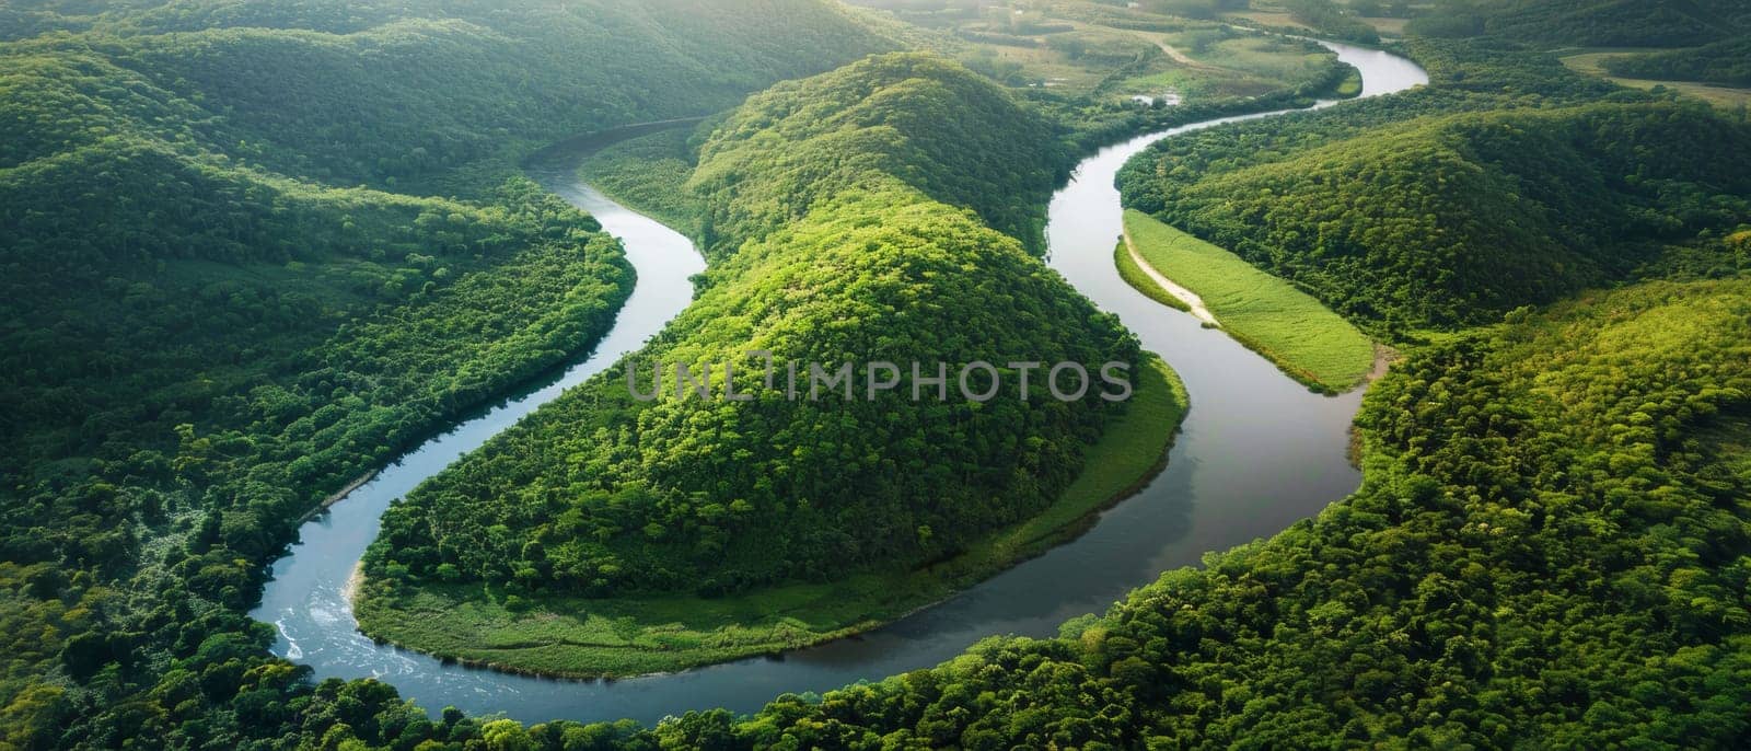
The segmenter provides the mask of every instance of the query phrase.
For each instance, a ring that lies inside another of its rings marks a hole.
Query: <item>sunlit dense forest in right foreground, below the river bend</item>
[[[1751,705],[1751,284],[1590,294],[1413,352],[1362,488],[1056,639],[744,721],[718,747],[1730,747]]]

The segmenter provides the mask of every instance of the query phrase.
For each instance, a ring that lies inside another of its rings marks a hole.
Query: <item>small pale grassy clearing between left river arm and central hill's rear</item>
[[[585,158],[578,175],[604,196],[681,235],[699,236],[704,205],[681,189],[693,173],[692,135],[693,128],[681,124],[608,145]]]

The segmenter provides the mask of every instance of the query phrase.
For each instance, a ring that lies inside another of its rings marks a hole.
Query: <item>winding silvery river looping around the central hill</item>
[[[1427,82],[1422,68],[1404,58],[1341,44],[1327,47],[1362,70],[1362,96]],[[1051,266],[1103,310],[1117,313],[1145,348],[1159,352],[1192,397],[1166,471],[1072,543],[860,637],[679,674],[622,681],[513,676],[445,663],[361,635],[345,597],[347,581],[376,537],[378,518],[390,501],[643,345],[692,299],[688,277],[704,268],[693,245],[606,200],[576,179],[567,159],[555,158],[531,168],[531,175],[594,214],[625,242],[637,268],[637,289],[613,331],[592,355],[550,383],[494,404],[408,452],[308,522],[291,555],[273,564],[273,581],[252,616],[278,627],[275,653],[310,665],[319,679],[380,677],[429,711],[455,705],[524,721],[651,723],[688,709],[748,712],[784,691],[876,681],[935,665],[991,634],[1051,635],[1061,621],[1105,611],[1163,571],[1198,564],[1205,551],[1308,518],[1361,481],[1345,457],[1361,392],[1341,397],[1308,392],[1220,331],[1203,329],[1191,315],[1143,298],[1119,278],[1112,263],[1121,228],[1114,175],[1131,156],[1175,133],[1282,114],[1199,123],[1103,149],[1052,198]]]

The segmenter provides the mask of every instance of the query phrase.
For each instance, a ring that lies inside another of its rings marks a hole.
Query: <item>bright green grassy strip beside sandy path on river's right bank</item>
[[[1203,298],[1229,336],[1310,389],[1350,390],[1373,369],[1368,334],[1289,282],[1136,210],[1124,212],[1124,228],[1143,261]]]

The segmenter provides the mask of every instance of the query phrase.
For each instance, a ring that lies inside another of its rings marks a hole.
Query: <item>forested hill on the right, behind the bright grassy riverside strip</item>
[[[1389,329],[1499,320],[1751,221],[1739,117],[1600,102],[1522,54],[1431,68],[1397,102],[1170,138],[1126,166],[1126,205]]]

